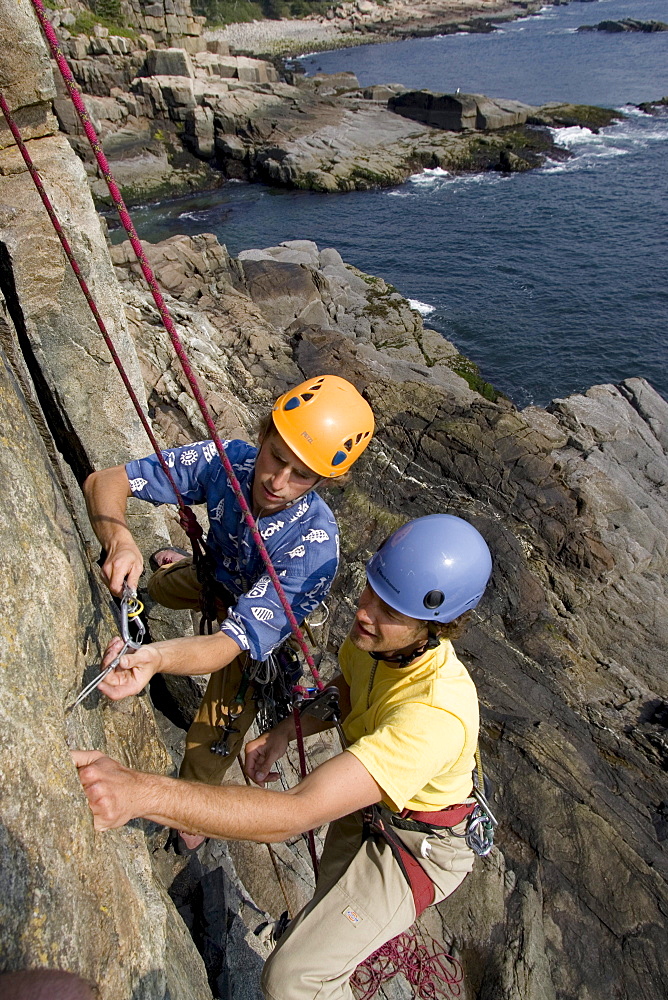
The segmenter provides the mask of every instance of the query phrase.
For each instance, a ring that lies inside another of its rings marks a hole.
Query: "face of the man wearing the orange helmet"
[[[252,496],[256,516],[276,514],[312,490],[319,480],[320,477],[297,458],[277,431],[268,431],[255,459]]]

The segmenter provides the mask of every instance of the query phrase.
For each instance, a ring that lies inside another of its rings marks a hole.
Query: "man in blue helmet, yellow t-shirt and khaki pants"
[[[246,773],[260,789],[175,781],[75,752],[99,830],[144,817],[271,842],[330,824],[315,895],[265,965],[270,1000],[351,998],[356,966],[471,870],[478,698],[451,640],[491,568],[480,533],[451,515],[418,518],[385,541],[367,563],[333,681],[346,748],[287,791],[265,785],[296,738],[291,718],[247,744]],[[305,735],[332,725],[302,718]]]

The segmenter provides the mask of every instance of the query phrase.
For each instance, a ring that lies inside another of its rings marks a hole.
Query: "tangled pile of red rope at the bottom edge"
[[[420,944],[413,934],[392,938],[358,965],[350,979],[357,1000],[371,1000],[383,983],[401,973],[421,1000],[450,1000],[461,993],[461,964],[436,941]]]

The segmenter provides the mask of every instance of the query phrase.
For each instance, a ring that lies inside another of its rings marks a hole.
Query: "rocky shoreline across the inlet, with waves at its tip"
[[[359,4],[366,17],[367,0]],[[515,16],[496,3],[487,8]],[[471,10],[447,9],[452,17],[453,10]],[[390,17],[394,8],[388,10]],[[411,8],[398,10],[405,17]],[[443,15],[444,8],[430,10]],[[267,23],[278,37],[306,22]],[[391,17],[383,30],[398,23]],[[264,22],[250,28],[268,30]],[[128,204],[211,189],[225,179],[336,193],[400,184],[425,168],[528,170],[547,156],[570,155],[551,128],[597,129],[620,117],[600,108],[532,108],[484,95],[407,92],[382,82],[361,88],[353,74],[306,78],[275,61],[240,55],[219,32],[178,40],[181,46],[164,47],[143,33],[132,42],[99,27],[90,38],[63,42]],[[95,198],[108,202],[69,97],[62,83],[58,87],[61,129],[84,161]]]

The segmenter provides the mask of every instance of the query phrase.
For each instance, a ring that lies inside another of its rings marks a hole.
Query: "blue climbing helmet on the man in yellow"
[[[479,531],[451,514],[409,521],[366,564],[371,588],[396,611],[451,622],[480,601],[492,557]]]

